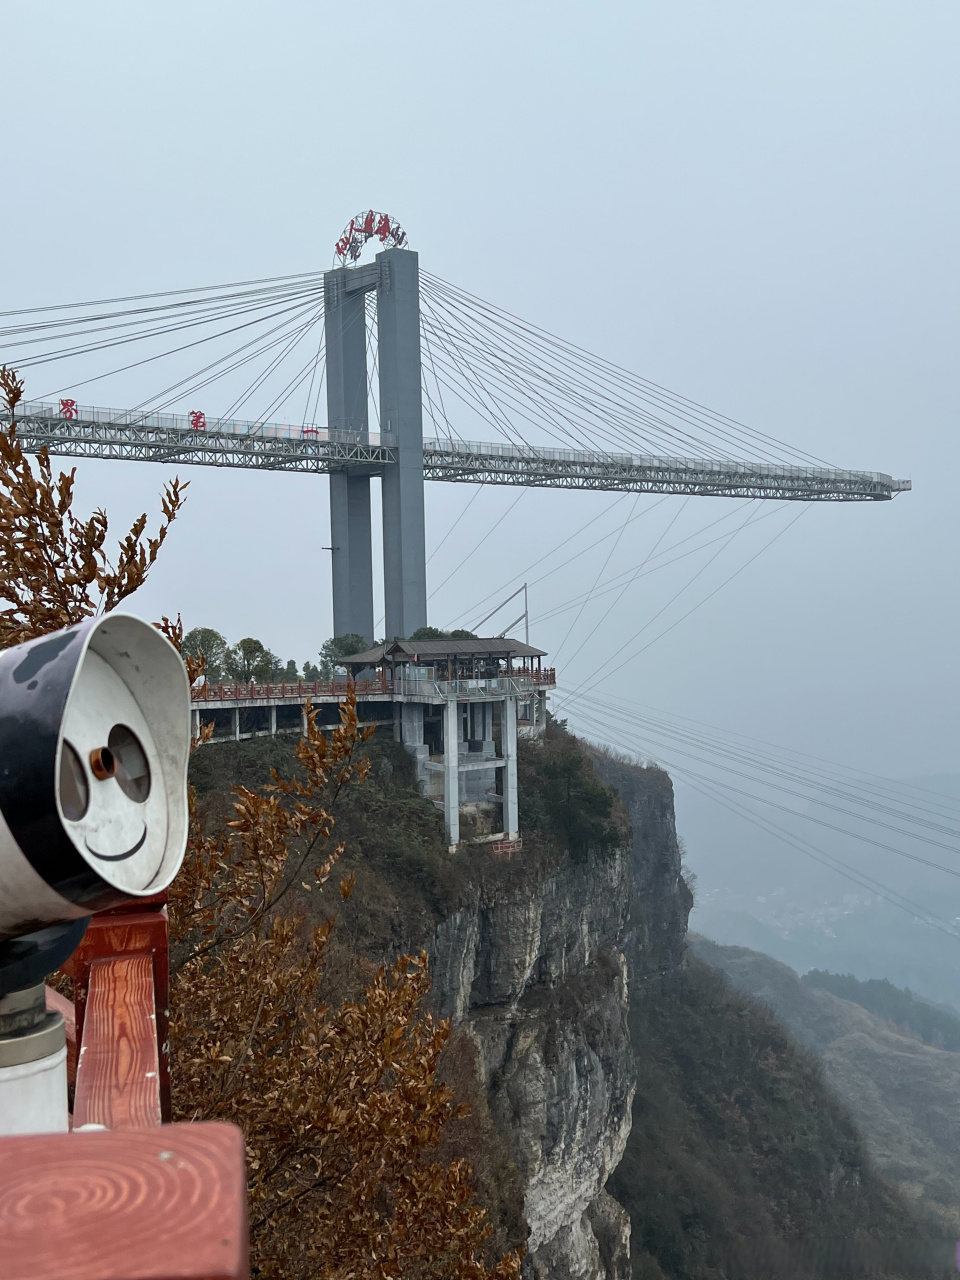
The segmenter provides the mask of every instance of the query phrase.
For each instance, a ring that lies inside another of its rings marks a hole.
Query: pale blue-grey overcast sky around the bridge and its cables
[[[607,696],[879,772],[957,771],[959,41],[954,0],[6,5],[3,308],[323,269],[351,215],[387,210],[438,275],[914,483],[892,503],[809,507]],[[180,474],[188,508],[137,609],[314,657],[326,481]],[[78,475],[118,532],[156,511],[156,465]],[[429,550],[472,493],[428,486]],[[476,621],[612,503],[529,492],[495,524],[516,497],[481,492],[433,558],[434,623]],[[628,526],[608,573],[681,500]],[[671,536],[724,511],[691,500]],[[635,643],[703,561],[637,582],[576,653],[589,605],[564,685],[641,648],[792,515],[737,539]],[[611,545],[531,586],[534,617],[590,588]],[[531,639],[554,653],[573,617]]]

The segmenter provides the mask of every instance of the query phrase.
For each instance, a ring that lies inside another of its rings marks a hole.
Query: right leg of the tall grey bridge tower
[[[411,636],[426,626],[420,264],[410,250],[390,248],[376,265],[380,429],[397,439],[397,465],[380,481],[385,634]]]

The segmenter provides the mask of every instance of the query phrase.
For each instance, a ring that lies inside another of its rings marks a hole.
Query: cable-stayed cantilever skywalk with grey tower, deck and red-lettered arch
[[[371,239],[380,251],[361,264]],[[882,472],[828,466],[421,273],[385,214],[352,219],[337,264],[0,316],[4,358],[24,372],[59,371],[78,358],[86,372],[95,356],[136,346],[137,358],[81,387],[132,369],[146,374],[165,358],[183,365],[201,351],[214,355],[132,408],[86,406],[76,383],[28,401],[17,413],[22,443],[74,457],[328,475],[334,632],[370,641],[374,477],[388,636],[428,622],[428,480],[780,502],[882,502],[910,488]],[[287,378],[317,333],[316,349]],[[243,340],[221,352],[234,337]],[[252,381],[224,412],[170,411],[251,366]],[[236,416],[259,393],[266,407]],[[278,411],[297,397],[301,421],[283,421]],[[477,439],[483,428],[497,439]]]

